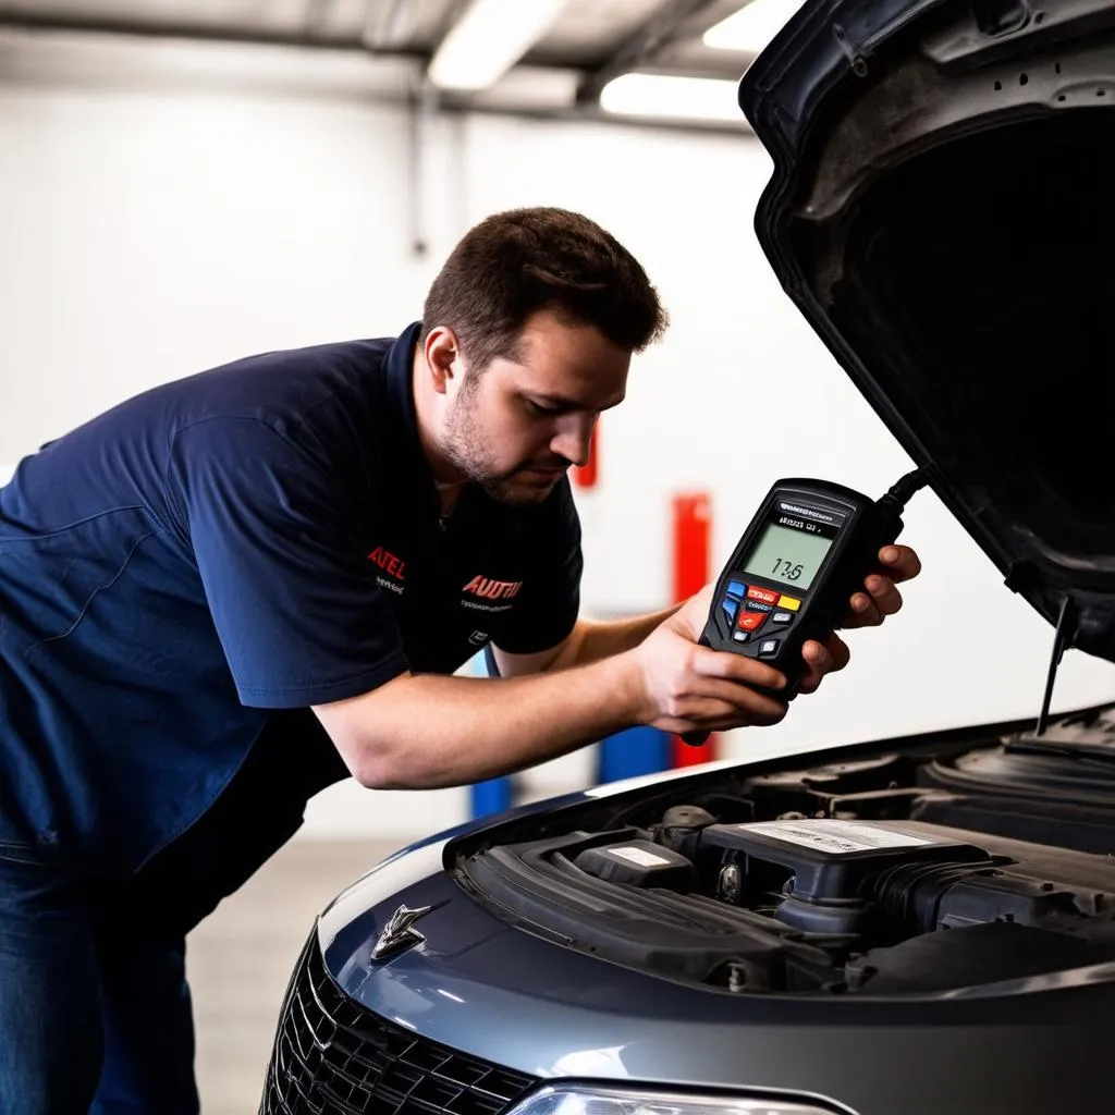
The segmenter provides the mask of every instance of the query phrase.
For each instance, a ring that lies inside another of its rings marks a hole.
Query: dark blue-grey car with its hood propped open
[[[1054,663],[1115,659],[1115,2],[808,0],[739,96],[785,290]],[[261,1111],[1108,1111],[1113,853],[1115,704],[524,806],[322,912]]]

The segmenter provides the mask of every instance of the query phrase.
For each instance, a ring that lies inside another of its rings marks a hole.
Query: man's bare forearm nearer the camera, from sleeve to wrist
[[[457,786],[556,758],[639,723],[619,657],[521,678],[405,675],[317,709],[349,769],[379,789]]]

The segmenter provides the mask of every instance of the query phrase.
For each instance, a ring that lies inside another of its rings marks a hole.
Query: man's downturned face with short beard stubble
[[[540,503],[589,458],[602,410],[622,401],[631,353],[592,326],[550,311],[527,319],[515,360],[465,368],[448,403],[442,453],[504,503]]]

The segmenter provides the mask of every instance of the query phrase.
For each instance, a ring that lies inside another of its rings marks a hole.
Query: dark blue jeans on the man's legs
[[[36,859],[0,847],[0,1115],[194,1115],[184,935]]]

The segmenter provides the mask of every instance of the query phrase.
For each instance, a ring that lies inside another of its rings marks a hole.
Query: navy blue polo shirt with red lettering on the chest
[[[282,710],[570,632],[568,482],[526,507],[469,486],[443,521],[417,334],[202,372],[20,464],[0,488],[0,842],[133,870]]]

